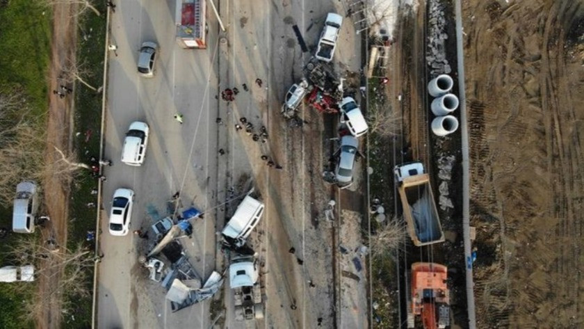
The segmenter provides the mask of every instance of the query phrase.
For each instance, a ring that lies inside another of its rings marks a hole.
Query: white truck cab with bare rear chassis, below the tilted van
[[[229,261],[229,286],[234,292],[235,319],[263,319],[263,301],[256,255],[234,254]]]

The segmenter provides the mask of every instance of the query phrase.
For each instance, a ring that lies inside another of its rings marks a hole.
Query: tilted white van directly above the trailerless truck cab
[[[228,242],[233,242],[237,247],[245,244],[245,239],[248,239],[254,227],[259,223],[259,219],[263,214],[263,203],[246,196],[243,201],[237,206],[235,214],[229,220],[223,229],[223,237]]]

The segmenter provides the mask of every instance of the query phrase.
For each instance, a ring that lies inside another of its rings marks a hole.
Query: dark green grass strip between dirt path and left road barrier
[[[87,10],[79,22],[77,45],[77,63],[83,65],[88,72],[83,80],[91,86],[102,86],[104,74],[104,49],[106,38],[106,6],[105,1],[95,2],[95,7],[102,13],[95,15]],[[90,157],[99,157],[99,131],[102,121],[102,94],[76,82],[75,88],[75,117],[74,148],[80,161],[87,162]],[[86,234],[95,230],[96,208],[88,208],[89,202],[97,202],[97,195],[91,190],[97,188],[97,180],[90,177],[88,170],[83,170],[76,177],[71,186],[70,222],[68,227],[67,245],[74,248],[78,243],[86,243]],[[99,205],[98,205],[99,206]],[[93,248],[93,245],[90,245]],[[93,288],[93,268],[88,269],[86,289]],[[92,297],[79,298],[70,293],[65,296],[65,303],[72,305],[70,313],[65,314],[63,326],[65,328],[89,328],[91,326]]]

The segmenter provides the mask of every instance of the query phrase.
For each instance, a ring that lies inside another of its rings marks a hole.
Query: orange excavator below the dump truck
[[[414,263],[407,293],[407,328],[416,328],[421,317],[424,329],[444,329],[450,325],[450,291],[446,287],[448,268],[435,263]]]

